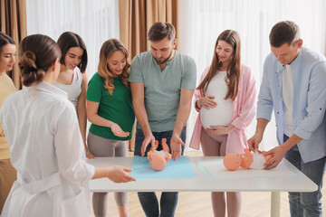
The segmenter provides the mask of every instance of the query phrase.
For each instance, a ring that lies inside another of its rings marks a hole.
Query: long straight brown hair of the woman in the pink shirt
[[[207,72],[205,79],[202,80],[202,82],[197,87],[197,90],[203,90],[205,93],[209,82],[218,73],[218,70],[222,66],[222,62],[218,60],[218,55],[216,53],[216,47],[219,41],[227,42],[234,49],[230,64],[227,66],[226,69],[225,83],[227,86],[227,93],[225,99],[235,100],[240,80],[241,42],[239,33],[233,30],[225,30],[217,37],[213,60],[209,67],[209,71]]]

